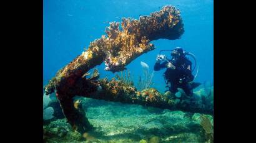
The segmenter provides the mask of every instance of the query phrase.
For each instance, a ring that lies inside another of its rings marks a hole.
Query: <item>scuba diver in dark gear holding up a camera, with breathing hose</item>
[[[164,51],[161,50],[159,55],[157,55],[156,62],[154,65],[154,70],[159,71],[162,68],[167,68],[164,73],[165,83],[169,87],[169,91],[172,94],[177,93],[177,88],[182,88],[187,96],[193,95],[193,89],[200,85],[200,83],[195,83],[193,80],[197,76],[197,73],[194,77],[192,75],[192,71],[195,70],[195,67],[192,69],[192,62],[185,55],[190,55],[194,58],[195,56],[192,53],[185,52],[180,47],[174,48],[174,50],[169,50],[172,58],[169,60],[165,57],[165,55],[160,55],[160,53]],[[163,63],[160,63],[164,61]],[[196,65],[196,60],[195,60]]]

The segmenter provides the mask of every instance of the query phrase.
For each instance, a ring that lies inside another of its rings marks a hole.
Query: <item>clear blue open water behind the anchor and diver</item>
[[[84,48],[104,35],[109,22],[121,22],[121,17],[139,19],[159,11],[162,6],[172,5],[180,9],[185,32],[179,40],[159,39],[152,41],[156,49],[136,58],[127,68],[134,81],[142,74],[140,61],[154,67],[160,50],[182,47],[194,53],[199,65],[195,81],[214,81],[214,4],[213,0],[44,0],[43,3],[43,76],[44,85],[56,75],[57,70],[81,55]],[[166,52],[165,52],[166,53]],[[166,53],[168,54],[168,53]],[[104,71],[104,63],[97,67],[101,77],[113,77]],[[165,70],[154,73],[154,85],[164,91]]]

